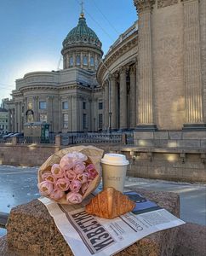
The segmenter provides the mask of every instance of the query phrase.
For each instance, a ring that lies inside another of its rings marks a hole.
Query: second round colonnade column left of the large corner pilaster
[[[126,67],[121,67],[120,69],[120,87],[119,87],[119,115],[120,115],[120,129],[125,130],[128,128],[127,125],[127,82],[126,82]]]

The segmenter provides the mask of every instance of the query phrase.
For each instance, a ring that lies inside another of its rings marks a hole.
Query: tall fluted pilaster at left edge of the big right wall
[[[141,130],[156,129],[153,119],[152,101],[152,4],[153,0],[134,0],[139,20],[139,51],[138,51],[138,126]]]

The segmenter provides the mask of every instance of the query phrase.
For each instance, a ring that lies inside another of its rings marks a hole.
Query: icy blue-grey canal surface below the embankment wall
[[[125,185],[178,193],[180,218],[186,222],[206,225],[206,184],[127,177]],[[38,197],[37,167],[0,166],[0,212],[10,212],[12,207]],[[0,229],[0,236],[5,232]]]

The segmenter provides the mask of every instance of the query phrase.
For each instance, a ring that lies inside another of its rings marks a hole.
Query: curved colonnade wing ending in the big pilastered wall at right
[[[134,6],[138,23],[97,72],[105,127],[206,131],[206,1],[134,0]]]

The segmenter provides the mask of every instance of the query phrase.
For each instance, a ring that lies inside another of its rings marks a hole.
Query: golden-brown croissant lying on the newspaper
[[[96,195],[86,206],[86,212],[101,218],[115,218],[134,209],[134,201],[114,188],[107,188]]]

